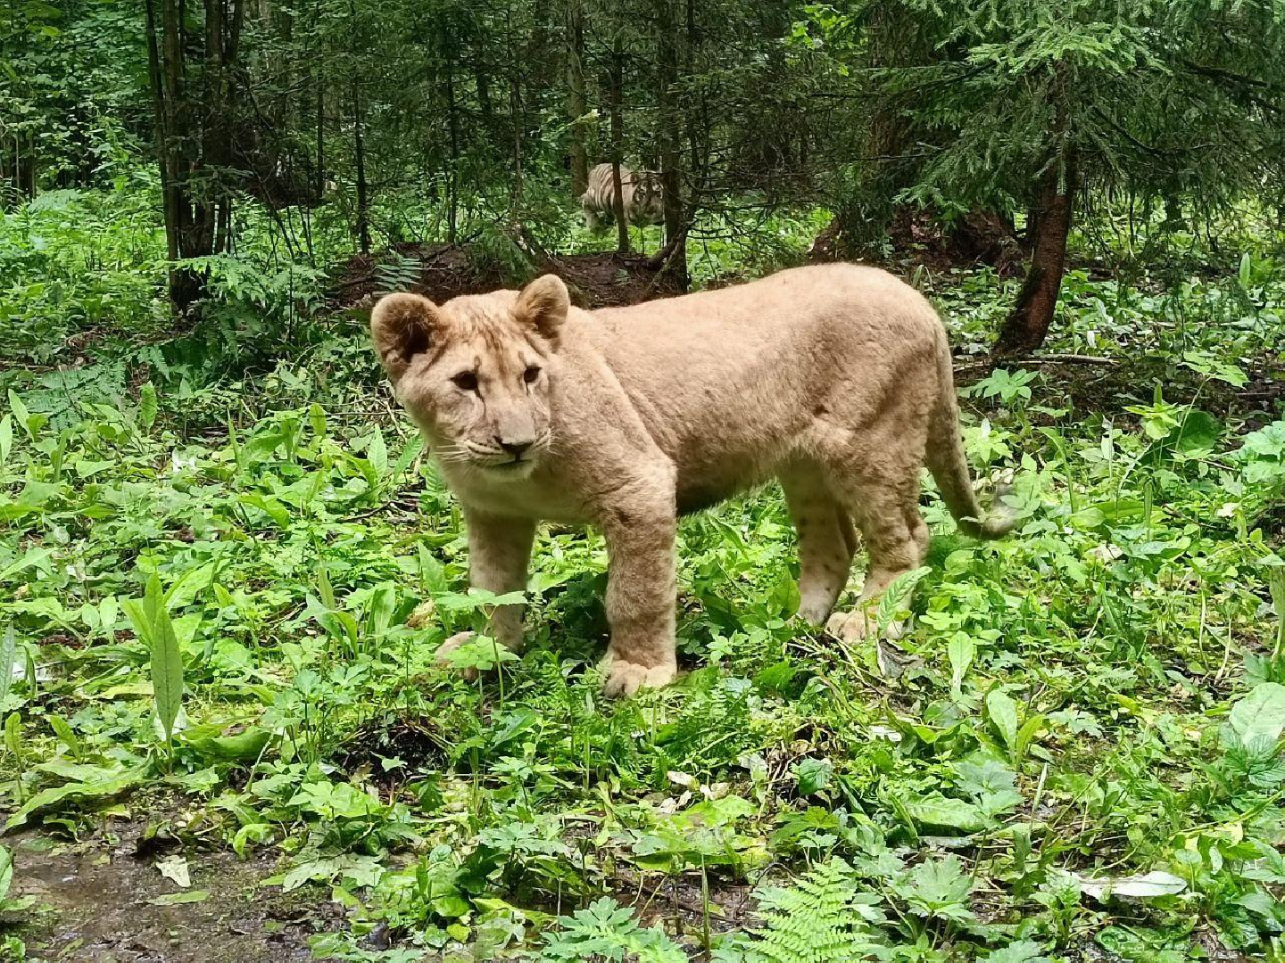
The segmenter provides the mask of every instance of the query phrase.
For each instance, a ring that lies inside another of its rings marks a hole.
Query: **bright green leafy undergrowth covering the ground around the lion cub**
[[[121,236],[154,266],[149,234]],[[98,240],[22,254],[24,290]],[[127,303],[107,315],[148,347],[4,375],[10,827],[73,840],[177,805],[190,859],[266,853],[265,886],[343,907],[321,958],[1285,959],[1270,259],[1069,279],[1051,351],[1119,370],[966,389],[974,466],[1013,474],[1023,524],[970,542],[926,494],[897,643],[792,619],[775,489],[685,520],[690,672],[623,702],[598,691],[591,533],[541,532],[522,660],[477,683],[433,665],[491,600],[464,591],[459,512],[359,316],[244,280],[166,335],[136,268],[64,294]],[[984,271],[919,281],[965,353],[1011,303]],[[51,295],[24,297],[8,324],[39,338]]]

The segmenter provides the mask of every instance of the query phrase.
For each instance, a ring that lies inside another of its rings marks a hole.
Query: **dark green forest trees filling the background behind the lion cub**
[[[1015,351],[1088,207],[1173,229],[1285,184],[1279,0],[31,0],[0,30],[10,195],[153,158],[176,261],[230,249],[247,196],[335,204],[361,250],[398,239],[375,213],[398,196],[445,240],[502,222],[538,245],[619,159],[662,172],[680,249],[744,205],[825,205],[847,257],[900,205],[1024,223]],[[200,272],[171,289],[190,303]]]

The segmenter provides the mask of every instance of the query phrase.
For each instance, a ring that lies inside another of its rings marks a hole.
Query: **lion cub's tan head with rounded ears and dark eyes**
[[[524,478],[551,439],[549,367],[568,309],[567,286],[554,275],[518,294],[442,306],[389,294],[370,313],[370,335],[438,458]]]

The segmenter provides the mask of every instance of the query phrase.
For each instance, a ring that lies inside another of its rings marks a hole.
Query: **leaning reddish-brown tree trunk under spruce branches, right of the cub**
[[[1032,234],[1031,266],[1018,293],[1018,303],[1000,329],[993,351],[996,356],[1029,353],[1043,344],[1049,334],[1067,270],[1067,238],[1074,214],[1074,195],[1072,164],[1050,163],[1040,178],[1034,218],[1028,229]]]

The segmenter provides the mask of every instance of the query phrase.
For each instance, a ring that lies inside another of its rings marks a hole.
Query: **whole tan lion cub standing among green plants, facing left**
[[[973,493],[941,321],[883,271],[801,267],[592,313],[545,276],[441,307],[393,294],[371,331],[463,505],[474,586],[524,588],[541,519],[603,530],[608,693],[673,679],[682,512],[779,478],[799,535],[799,614],[813,623],[847,584],[853,523],[870,555],[862,600],[923,561],[925,462],[962,530],[1006,530]],[[477,390],[451,380],[460,372]],[[829,624],[866,630],[861,606]],[[500,611],[492,632],[518,648],[520,611]]]

